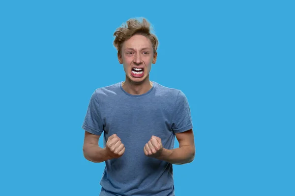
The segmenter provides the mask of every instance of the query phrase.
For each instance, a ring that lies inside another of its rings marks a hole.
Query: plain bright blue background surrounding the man
[[[145,17],[150,79],[184,92],[194,124],[176,196],[295,196],[293,2],[1,1],[0,195],[99,194],[81,126],[93,91],[125,78],[114,31]]]

